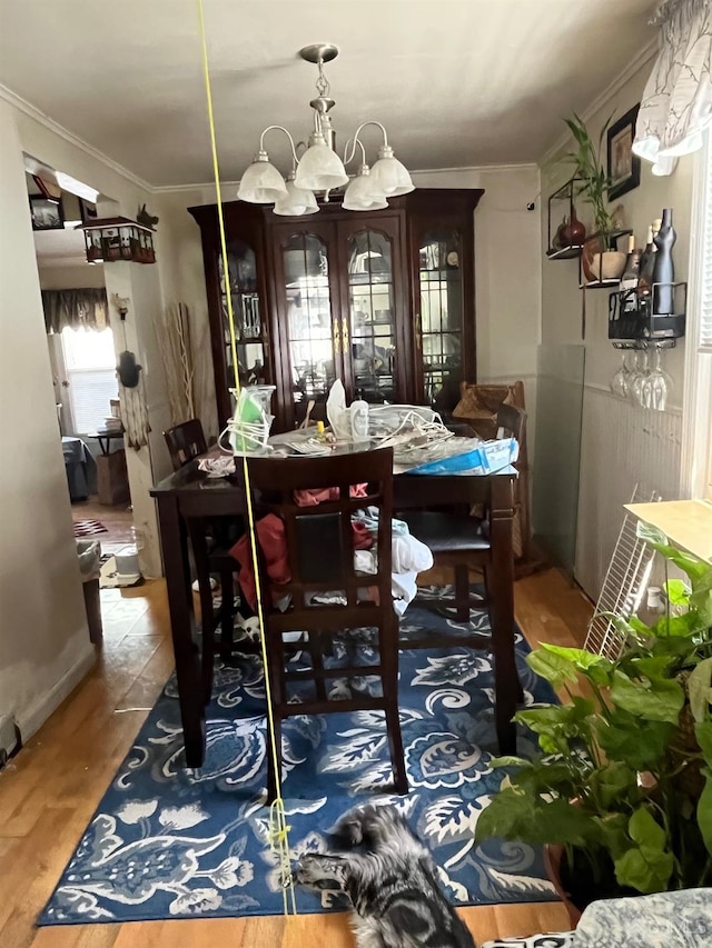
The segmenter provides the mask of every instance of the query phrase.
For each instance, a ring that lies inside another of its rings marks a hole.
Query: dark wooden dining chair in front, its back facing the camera
[[[393,450],[277,461],[253,458],[248,468],[259,513],[274,513],[284,523],[289,576],[283,585],[273,582],[260,548],[258,570],[277,750],[281,755],[285,718],[384,711],[395,791],[406,794],[397,697],[398,620],[390,592]],[[368,485],[366,497],[350,496],[350,487],[357,483]],[[334,499],[310,507],[295,501],[295,491],[326,488],[335,488]],[[376,575],[358,573],[354,567],[352,515],[365,507],[378,511]],[[315,601],[325,593],[332,593],[328,602]],[[289,606],[280,611],[273,603],[286,596]],[[376,663],[356,663],[356,629],[359,636],[364,629],[373,630]],[[289,632],[303,632],[304,640],[295,643]],[[346,667],[329,667],[332,646],[337,641],[346,648]],[[297,650],[308,661],[289,661]],[[379,695],[373,697],[352,687],[355,678],[365,675],[379,679]],[[277,779],[270,755],[269,799],[275,797]]]

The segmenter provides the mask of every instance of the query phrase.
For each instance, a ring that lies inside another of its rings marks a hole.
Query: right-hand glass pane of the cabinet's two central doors
[[[390,238],[375,230],[347,241],[348,332],[344,358],[350,356],[350,383],[356,398],[368,402],[396,400],[395,299]],[[350,335],[350,339],[349,339]]]

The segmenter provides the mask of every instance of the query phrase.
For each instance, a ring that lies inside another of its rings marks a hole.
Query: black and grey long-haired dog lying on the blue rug
[[[358,948],[476,948],[433,857],[396,809],[352,810],[333,832],[345,851],[303,856],[295,880],[346,894]]]

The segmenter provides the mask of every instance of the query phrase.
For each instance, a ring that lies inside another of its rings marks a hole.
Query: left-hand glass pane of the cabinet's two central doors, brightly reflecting
[[[281,247],[287,305],[287,346],[295,421],[308,402],[323,402],[340,375],[342,338],[332,320],[327,245],[314,233],[296,233]]]

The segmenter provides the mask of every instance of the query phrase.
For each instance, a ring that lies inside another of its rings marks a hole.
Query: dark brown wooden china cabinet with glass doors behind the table
[[[418,189],[383,211],[285,218],[224,204],[243,385],[276,386],[274,430],[323,403],[336,379],[348,400],[453,408],[476,380],[474,219],[484,191]],[[235,386],[217,208],[200,226],[218,418]]]

